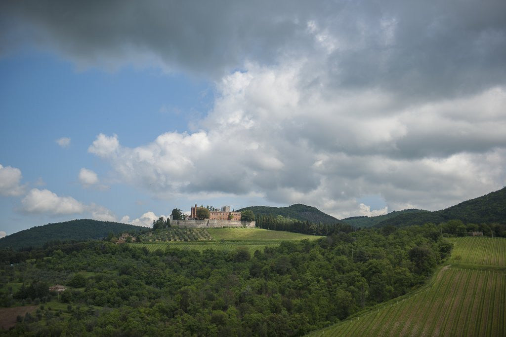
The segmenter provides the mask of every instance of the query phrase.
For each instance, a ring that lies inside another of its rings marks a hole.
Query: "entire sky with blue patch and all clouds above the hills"
[[[0,237],[506,185],[506,2],[0,3]]]

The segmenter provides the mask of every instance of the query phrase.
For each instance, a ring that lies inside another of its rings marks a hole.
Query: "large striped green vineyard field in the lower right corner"
[[[452,242],[450,264],[427,286],[311,335],[506,336],[506,239]]]

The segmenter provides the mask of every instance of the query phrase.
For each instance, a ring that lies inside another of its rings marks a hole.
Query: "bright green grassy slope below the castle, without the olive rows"
[[[267,230],[260,228],[209,228],[207,232],[212,236],[208,241],[192,242],[156,242],[131,244],[135,247],[146,247],[150,251],[165,250],[167,247],[184,250],[216,249],[231,251],[238,247],[246,247],[251,253],[262,251],[266,246],[278,246],[281,241],[315,240],[322,236],[305,235],[299,233]]]

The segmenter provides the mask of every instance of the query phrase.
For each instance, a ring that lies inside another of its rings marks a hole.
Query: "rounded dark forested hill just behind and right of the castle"
[[[294,204],[288,207],[251,206],[241,208],[237,211],[240,212],[244,210],[251,210],[255,213],[255,215],[272,215],[274,217],[281,215],[285,218],[289,217],[300,221],[309,221],[314,223],[321,222],[334,224],[339,222],[338,219],[323,213],[315,207],[302,204]]]

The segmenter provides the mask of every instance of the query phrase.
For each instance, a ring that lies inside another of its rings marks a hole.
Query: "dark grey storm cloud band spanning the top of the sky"
[[[437,98],[506,78],[503,1],[10,1],[2,13],[3,44],[31,36],[87,65],[148,54],[175,71],[222,75],[244,60],[319,54],[311,22],[334,40],[321,60],[331,87]]]

